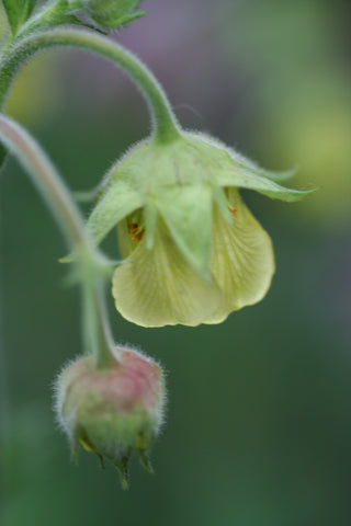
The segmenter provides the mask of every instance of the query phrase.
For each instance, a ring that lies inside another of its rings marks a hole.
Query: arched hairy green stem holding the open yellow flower
[[[22,64],[41,49],[70,46],[88,49],[124,69],[145,96],[154,123],[154,137],[168,142],[180,136],[177,118],[161,85],[144,64],[120,44],[87,30],[54,30],[33,34],[14,44],[0,66],[0,107]]]

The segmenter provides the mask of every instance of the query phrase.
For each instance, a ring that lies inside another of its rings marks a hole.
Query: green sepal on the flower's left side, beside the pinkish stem
[[[112,181],[87,222],[93,243],[99,244],[124,217],[144,205],[141,194],[123,180]]]

